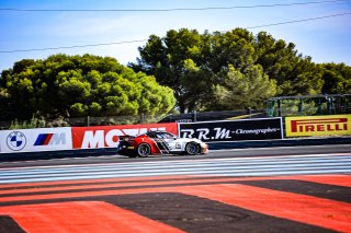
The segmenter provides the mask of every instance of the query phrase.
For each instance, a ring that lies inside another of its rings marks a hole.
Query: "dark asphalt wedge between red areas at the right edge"
[[[242,180],[236,182],[249,186],[308,195],[330,200],[351,202],[351,188],[336,185],[318,184],[295,179]]]

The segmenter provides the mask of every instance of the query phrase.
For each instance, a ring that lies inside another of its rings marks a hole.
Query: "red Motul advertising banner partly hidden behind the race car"
[[[72,127],[73,149],[116,148],[118,136],[137,136],[149,130],[167,130],[178,135],[177,123]]]

